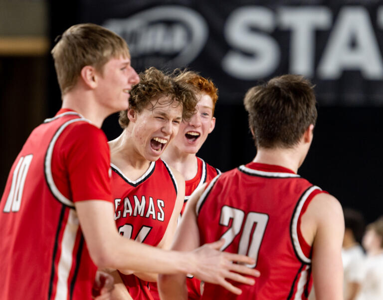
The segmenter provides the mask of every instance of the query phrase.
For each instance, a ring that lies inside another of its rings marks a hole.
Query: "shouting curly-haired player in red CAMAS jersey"
[[[154,67],[141,73],[140,84],[131,90],[129,109],[119,118],[124,130],[109,143],[114,218],[124,237],[170,249],[184,203],[185,180],[159,158],[195,105],[188,84],[176,83]],[[120,273],[114,276],[116,282],[120,281],[117,276],[133,299],[153,299],[146,281],[157,281],[157,275]],[[122,298],[120,291],[116,286],[113,296]]]

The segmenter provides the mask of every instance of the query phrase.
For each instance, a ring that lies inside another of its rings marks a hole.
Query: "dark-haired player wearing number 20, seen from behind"
[[[298,75],[251,88],[244,104],[257,154],[215,177],[188,201],[172,249],[223,238],[222,251],[254,258],[261,277],[230,295],[205,283],[201,299],[342,300],[342,207],[298,174],[317,117],[312,85]],[[200,196],[200,197],[199,197]],[[187,299],[185,276],[161,275],[163,300]]]

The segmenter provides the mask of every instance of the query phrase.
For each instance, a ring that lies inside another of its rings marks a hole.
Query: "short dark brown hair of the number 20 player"
[[[317,120],[314,86],[301,75],[282,75],[250,88],[244,98],[255,145],[290,148]]]

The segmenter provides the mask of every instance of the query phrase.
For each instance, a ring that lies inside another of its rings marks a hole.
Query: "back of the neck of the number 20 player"
[[[295,149],[258,148],[253,162],[277,165],[297,173],[300,166],[300,155]]]

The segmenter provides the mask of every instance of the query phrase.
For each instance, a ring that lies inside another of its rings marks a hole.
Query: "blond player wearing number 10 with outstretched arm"
[[[179,253],[116,230],[110,153],[100,127],[108,115],[128,108],[139,82],[126,42],[103,27],[78,24],[63,33],[52,54],[62,108],[33,130],[6,182],[0,299],[90,300],[97,267],[192,273],[238,292],[225,278],[250,271],[230,261],[253,260],[219,254],[222,241]]]

